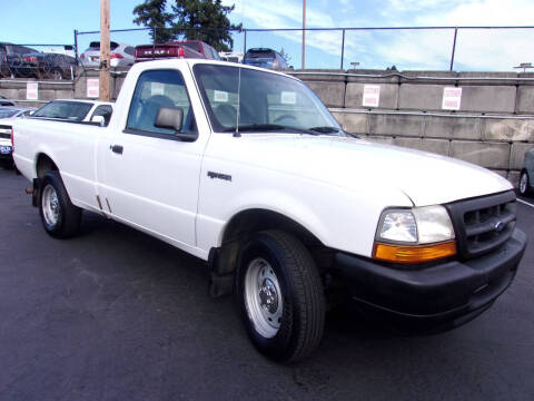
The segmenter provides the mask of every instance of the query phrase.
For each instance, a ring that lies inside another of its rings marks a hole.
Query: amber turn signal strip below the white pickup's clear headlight
[[[392,245],[375,243],[373,257],[394,263],[423,263],[456,254],[456,242],[447,241],[428,245]]]

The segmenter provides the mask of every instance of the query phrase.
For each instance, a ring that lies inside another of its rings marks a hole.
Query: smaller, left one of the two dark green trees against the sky
[[[144,3],[134,9],[134,14],[137,14],[134,19],[135,23],[156,28],[150,32],[150,37],[156,43],[162,43],[175,38],[174,31],[167,27],[172,21],[172,14],[166,12],[166,6],[167,0],[145,0]]]

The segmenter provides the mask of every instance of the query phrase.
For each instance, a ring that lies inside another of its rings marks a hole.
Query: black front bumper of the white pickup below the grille
[[[526,235],[515,229],[496,251],[465,262],[398,270],[337,253],[336,265],[350,296],[368,309],[424,327],[458,326],[475,317],[512,283]]]

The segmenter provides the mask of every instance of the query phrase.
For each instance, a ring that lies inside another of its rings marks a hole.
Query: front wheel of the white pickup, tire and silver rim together
[[[239,255],[236,301],[254,345],[276,361],[314,351],[325,324],[324,290],[309,252],[278,231],[256,234]]]

